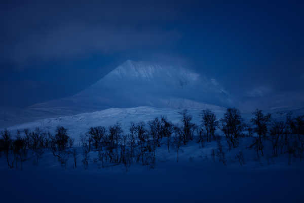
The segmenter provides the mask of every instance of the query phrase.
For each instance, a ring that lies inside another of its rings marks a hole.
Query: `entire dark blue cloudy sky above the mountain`
[[[301,1],[126,2],[2,1],[0,106],[72,95],[127,59],[183,63],[240,99],[304,105]]]

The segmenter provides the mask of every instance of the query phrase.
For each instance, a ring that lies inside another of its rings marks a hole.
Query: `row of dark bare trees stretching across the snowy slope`
[[[140,163],[155,167],[156,151],[165,145],[168,153],[176,153],[176,161],[179,161],[179,153],[188,142],[194,141],[201,147],[206,143],[216,142],[217,148],[211,152],[211,157],[226,164],[224,145],[227,151],[238,148],[240,139],[251,138],[252,143],[248,149],[256,153],[256,157],[264,156],[264,146],[271,144],[272,156],[288,154],[289,160],[303,158],[304,153],[304,116],[291,117],[288,114],[285,120],[276,120],[271,114],[264,114],[261,110],[255,110],[250,123],[245,123],[241,113],[236,108],[229,108],[221,119],[217,119],[211,110],[202,110],[201,123],[193,122],[193,117],[187,110],[179,112],[181,120],[173,124],[165,116],[145,122],[132,122],[125,133],[120,123],[105,127],[90,127],[81,136],[82,164],[88,168],[90,160],[101,167],[123,165],[126,169],[133,163]],[[32,131],[17,130],[13,136],[5,129],[1,132],[0,157],[4,157],[9,168],[20,168],[23,163],[32,160],[38,165],[46,152],[50,152],[60,163],[66,167],[69,159],[73,167],[78,166],[78,148],[74,146],[74,140],[68,136],[67,129],[57,126],[54,134],[45,132],[40,128]],[[222,140],[225,140],[225,143]],[[91,159],[92,153],[97,154]],[[245,163],[244,154],[241,151],[236,155],[240,164]]]

